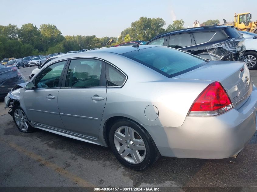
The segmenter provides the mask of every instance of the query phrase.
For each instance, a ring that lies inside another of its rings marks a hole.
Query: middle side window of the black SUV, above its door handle
[[[190,33],[181,35],[172,35],[169,37],[169,47],[179,49],[192,45],[192,39]]]

